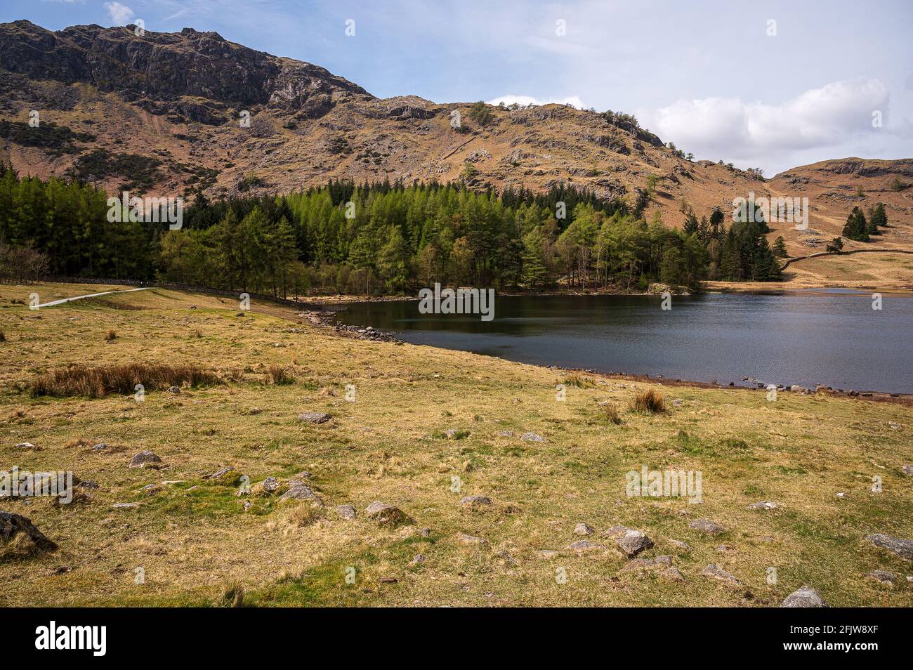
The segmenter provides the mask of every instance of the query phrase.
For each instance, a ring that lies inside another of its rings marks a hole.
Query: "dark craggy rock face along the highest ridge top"
[[[255,51],[214,32],[134,26],[71,26],[51,32],[28,21],[0,30],[0,68],[32,79],[86,82],[124,99],[204,98],[231,106],[270,103],[306,114],[343,93],[371,96],[310,63]],[[325,112],[324,112],[325,113]]]

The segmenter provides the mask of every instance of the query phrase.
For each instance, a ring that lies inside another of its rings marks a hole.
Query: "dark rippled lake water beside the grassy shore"
[[[418,301],[356,303],[343,323],[510,361],[747,385],[824,384],[913,393],[913,298],[830,290],[788,295],[496,298],[494,319],[420,314]]]

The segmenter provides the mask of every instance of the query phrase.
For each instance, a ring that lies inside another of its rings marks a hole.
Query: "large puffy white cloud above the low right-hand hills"
[[[888,98],[880,80],[855,79],[806,90],[781,104],[738,98],[678,100],[657,110],[637,110],[637,116],[664,140],[698,156],[768,162],[784,153],[887,131],[873,127],[872,113],[880,110],[887,120]]]

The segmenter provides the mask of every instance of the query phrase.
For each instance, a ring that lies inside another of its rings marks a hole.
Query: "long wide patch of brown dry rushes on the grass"
[[[50,395],[58,398],[88,396],[101,398],[109,393],[133,393],[137,384],[146,391],[170,386],[212,386],[222,383],[214,372],[192,365],[150,365],[130,363],[90,368],[74,364],[38,375],[28,384],[33,398]]]

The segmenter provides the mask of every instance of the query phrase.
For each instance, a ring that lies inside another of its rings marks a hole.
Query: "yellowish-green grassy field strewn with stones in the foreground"
[[[770,606],[808,584],[831,605],[913,605],[913,565],[865,539],[913,537],[913,477],[901,470],[913,463],[908,405],[794,393],[767,402],[749,390],[568,374],[342,338],[290,309],[255,302],[238,316],[227,298],[162,289],[27,307],[32,292],[44,303],[99,290],[0,287],[0,469],[71,470],[98,484],[69,505],[0,499],[59,545],[0,562],[0,604],[218,605],[243,591],[246,605]],[[144,402],[28,391],[69,364],[125,363],[195,365],[225,382],[149,391]],[[271,382],[270,366],[293,380]],[[665,395],[665,413],[630,409],[648,389]],[[308,424],[302,412],[332,419]],[[521,441],[526,432],[545,441]],[[16,447],[24,442],[37,449]],[[163,468],[130,468],[147,449]],[[223,466],[249,477],[249,495],[204,478]],[[626,496],[625,473],[642,466],[699,471],[702,502]],[[258,486],[302,471],[323,507]],[[473,495],[491,504],[460,505]],[[367,518],[374,500],[409,520]],[[748,508],[761,500],[778,508]],[[341,518],[334,508],[350,503],[356,518]],[[697,518],[726,531],[691,529]],[[593,535],[574,534],[579,522]],[[602,535],[618,524],[645,531],[656,545],[641,557],[671,556],[684,581],[623,571],[629,560]],[[580,539],[604,549],[570,550]],[[703,577],[711,563],[741,586]],[[875,570],[894,572],[896,585],[868,579]]]

